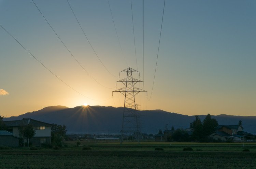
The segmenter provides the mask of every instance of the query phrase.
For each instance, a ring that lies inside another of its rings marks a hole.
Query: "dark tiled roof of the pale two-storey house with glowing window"
[[[48,126],[51,127],[52,124],[45,123],[42,121],[34,120],[31,118],[23,118],[22,120],[12,120],[12,121],[3,121],[6,127],[15,127],[15,126]]]

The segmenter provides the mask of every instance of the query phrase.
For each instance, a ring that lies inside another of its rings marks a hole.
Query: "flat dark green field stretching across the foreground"
[[[0,168],[256,168],[255,143],[65,144],[60,150],[0,150]],[[91,150],[82,150],[83,146]],[[157,147],[164,151],[155,151]],[[183,151],[185,147],[193,151]]]

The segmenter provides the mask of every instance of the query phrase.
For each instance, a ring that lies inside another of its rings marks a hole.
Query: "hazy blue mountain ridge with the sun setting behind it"
[[[170,113],[162,110],[145,110],[139,112],[141,132],[156,133],[159,129],[165,130],[171,126],[176,128],[189,128],[195,116],[187,116]],[[199,115],[201,121],[206,115]],[[51,106],[42,110],[25,113],[17,117],[4,118],[7,120],[19,120],[32,118],[46,123],[66,125],[68,133],[119,133],[122,127],[123,108],[104,106],[78,106],[68,108],[65,106]],[[231,116],[217,115],[219,125],[236,125],[242,120],[244,131],[256,134],[256,116]]]

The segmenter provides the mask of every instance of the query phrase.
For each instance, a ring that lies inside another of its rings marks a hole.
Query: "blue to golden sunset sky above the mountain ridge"
[[[136,84],[147,91],[136,96],[141,110],[256,115],[255,0],[166,0],[159,53],[164,0],[145,0],[144,61],[143,0],[68,2],[34,0],[73,56],[32,0],[0,0],[0,24],[38,59],[0,26],[2,116],[56,105],[122,107],[124,96],[112,91],[124,87],[116,81],[128,67],[144,81]]]

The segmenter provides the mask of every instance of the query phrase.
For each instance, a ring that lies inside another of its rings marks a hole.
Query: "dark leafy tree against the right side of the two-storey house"
[[[52,144],[57,147],[62,147],[63,139],[67,133],[66,126],[53,124],[51,127]]]

